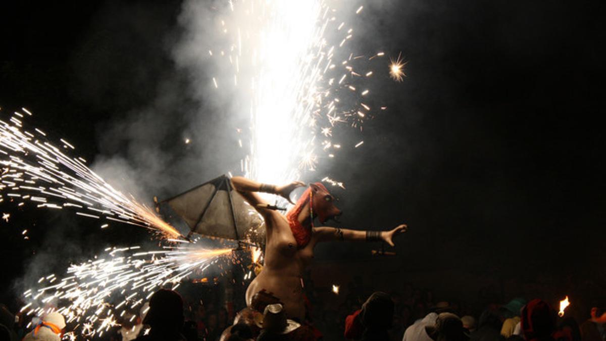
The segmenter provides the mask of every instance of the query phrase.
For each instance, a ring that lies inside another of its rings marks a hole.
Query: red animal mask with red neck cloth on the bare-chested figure
[[[342,212],[335,206],[334,201],[335,197],[328,192],[328,189],[322,183],[312,183],[305,189],[295,207],[287,212],[288,225],[290,225],[299,248],[303,248],[311,240],[311,229],[304,228],[298,219],[305,204],[310,203],[311,226],[313,226],[315,217],[318,217],[321,223],[325,223],[328,219],[341,215]]]

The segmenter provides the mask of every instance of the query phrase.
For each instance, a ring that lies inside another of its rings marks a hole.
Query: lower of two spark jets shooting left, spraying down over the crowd
[[[203,272],[231,249],[207,250],[196,246],[141,251],[139,246],[108,248],[104,257],[67,269],[65,277],[42,277],[40,288],[24,292],[25,316],[57,311],[70,331],[86,338],[99,337],[130,309],[140,309],[159,288],[175,289],[182,280]]]

